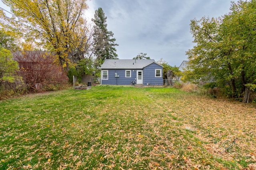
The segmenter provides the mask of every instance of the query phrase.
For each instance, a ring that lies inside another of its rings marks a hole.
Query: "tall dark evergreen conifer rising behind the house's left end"
[[[94,55],[96,56],[96,66],[100,67],[105,59],[118,59],[116,48],[118,44],[113,37],[114,33],[107,29],[107,17],[102,8],[95,10],[94,19]]]

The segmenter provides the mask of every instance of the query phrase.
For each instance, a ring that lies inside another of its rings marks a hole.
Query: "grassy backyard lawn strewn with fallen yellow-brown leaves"
[[[175,88],[33,94],[0,101],[0,169],[249,170],[255,127],[255,105]]]

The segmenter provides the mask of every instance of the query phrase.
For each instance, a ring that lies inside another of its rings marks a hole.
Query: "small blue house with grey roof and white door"
[[[155,60],[106,59],[101,66],[101,84],[163,86],[163,66]]]

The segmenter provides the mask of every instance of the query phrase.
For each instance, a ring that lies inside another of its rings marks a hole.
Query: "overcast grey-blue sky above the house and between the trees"
[[[228,14],[230,0],[91,0],[88,18],[99,7],[107,17],[107,29],[114,33],[119,59],[132,59],[139,53],[171,66],[187,60],[193,48],[190,20],[203,16],[217,18]]]

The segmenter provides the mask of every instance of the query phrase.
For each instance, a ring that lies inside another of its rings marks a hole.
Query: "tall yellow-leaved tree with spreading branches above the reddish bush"
[[[53,50],[68,71],[68,53],[77,49],[81,36],[80,25],[88,8],[86,0],[2,0],[16,16],[12,27],[33,39],[38,47]],[[7,26],[4,25],[3,26]]]

